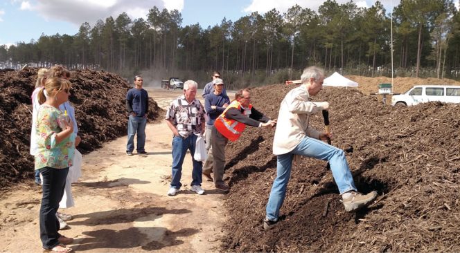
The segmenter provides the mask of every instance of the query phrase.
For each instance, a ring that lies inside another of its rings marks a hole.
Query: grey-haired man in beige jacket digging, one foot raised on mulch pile
[[[324,71],[321,68],[306,68],[301,75],[301,86],[293,88],[281,102],[273,140],[273,153],[277,156],[276,178],[266,207],[267,215],[263,221],[265,230],[272,229],[278,222],[279,209],[286,195],[294,155],[329,162],[347,212],[369,205],[377,196],[376,191],[366,195],[357,192],[344,151],[321,141],[330,138],[330,133],[320,133],[308,127],[310,114],[329,108],[328,102],[310,102],[310,96],[317,95],[323,88],[323,80]]]

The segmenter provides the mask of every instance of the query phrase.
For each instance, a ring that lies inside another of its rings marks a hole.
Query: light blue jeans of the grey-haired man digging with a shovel
[[[266,208],[267,218],[270,221],[278,221],[279,209],[283,205],[286,187],[288,187],[291,176],[294,155],[328,161],[340,194],[351,190],[356,191],[355,182],[353,182],[353,176],[351,176],[350,169],[346,163],[344,151],[315,138],[303,138],[295,149],[277,157],[276,178],[273,182]]]

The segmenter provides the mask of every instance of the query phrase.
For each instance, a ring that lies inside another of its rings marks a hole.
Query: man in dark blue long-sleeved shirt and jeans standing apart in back
[[[143,79],[140,75],[134,77],[134,88],[127,91],[126,108],[130,113],[127,123],[126,153],[132,156],[134,151],[134,135],[137,132],[137,153],[145,154],[145,125],[147,124],[148,93],[142,88]]]

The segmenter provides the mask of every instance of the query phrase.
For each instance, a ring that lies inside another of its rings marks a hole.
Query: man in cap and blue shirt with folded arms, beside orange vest
[[[213,181],[211,172],[213,171],[213,151],[211,149],[211,133],[214,127],[214,121],[221,115],[225,108],[230,104],[229,96],[222,93],[224,91],[224,82],[220,78],[213,80],[213,92],[204,97],[204,109],[206,109],[206,150],[208,151],[208,159],[204,162],[203,176],[209,181]]]

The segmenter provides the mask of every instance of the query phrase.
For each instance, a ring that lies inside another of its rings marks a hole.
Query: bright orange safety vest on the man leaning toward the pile
[[[215,119],[214,122],[214,127],[219,133],[222,133],[222,135],[225,136],[225,138],[231,140],[232,142],[238,140],[240,138],[242,131],[245,131],[246,124],[243,124],[241,122],[238,122],[236,120],[230,120],[225,118],[225,113],[227,110],[231,108],[236,108],[238,110],[241,110],[241,104],[240,102],[234,100],[227,106],[225,111],[217,118]],[[249,104],[249,111],[251,111],[252,104]],[[243,115],[247,115],[246,111],[243,112]]]

